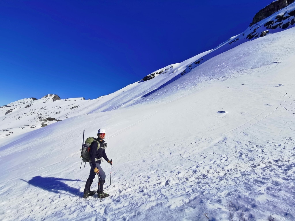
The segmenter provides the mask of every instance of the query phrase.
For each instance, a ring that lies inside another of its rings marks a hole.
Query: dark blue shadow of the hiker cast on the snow
[[[63,178],[56,178],[56,177],[33,177],[29,181],[23,180],[22,181],[27,182],[28,184],[31,184],[35,187],[39,187],[41,189],[47,190],[49,192],[54,192],[54,193],[61,193],[60,191],[65,191],[70,194],[76,195],[76,196],[81,196],[81,192],[77,188],[73,188],[68,186],[67,184],[61,182],[62,180],[64,181],[82,181],[80,179],[63,179]],[[83,181],[82,181],[83,182]]]

